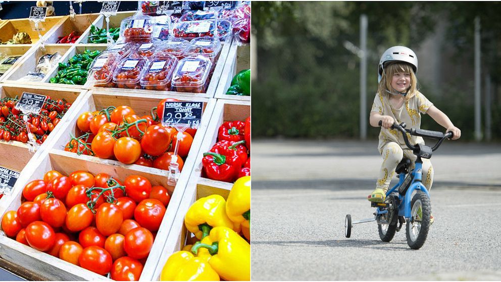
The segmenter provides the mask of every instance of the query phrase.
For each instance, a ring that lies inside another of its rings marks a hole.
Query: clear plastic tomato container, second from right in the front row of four
[[[140,84],[148,90],[171,90],[171,79],[177,66],[177,58],[166,54],[148,62]]]

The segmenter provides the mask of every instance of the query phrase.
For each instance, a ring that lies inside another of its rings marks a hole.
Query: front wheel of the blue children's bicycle
[[[407,245],[417,250],[423,247],[430,228],[430,198],[418,191],[411,201],[411,220],[407,223]]]

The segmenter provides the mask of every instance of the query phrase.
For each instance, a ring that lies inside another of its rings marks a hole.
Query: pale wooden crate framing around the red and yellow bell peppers
[[[184,216],[189,207],[198,199],[207,197],[212,194],[218,194],[223,198],[228,198],[228,194],[233,186],[233,183],[216,181],[202,177],[202,158],[205,152],[209,152],[212,146],[216,143],[219,126],[225,121],[245,119],[250,115],[250,102],[245,101],[230,101],[218,100],[214,113],[212,114],[211,122],[207,128],[204,141],[195,160],[193,172],[191,173],[189,182],[184,192],[183,200],[176,213],[172,229],[165,242],[164,250],[158,260],[157,268],[153,275],[153,280],[159,280],[162,268],[167,259],[175,252],[182,250],[186,241],[190,240],[189,234],[184,225]],[[189,243],[189,242],[188,242]]]

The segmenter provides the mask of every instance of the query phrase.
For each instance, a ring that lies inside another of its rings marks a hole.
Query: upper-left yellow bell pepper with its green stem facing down
[[[240,226],[233,223],[226,215],[226,201],[220,195],[211,195],[194,202],[184,217],[184,224],[198,239],[208,236],[211,228],[217,226],[240,231]]]

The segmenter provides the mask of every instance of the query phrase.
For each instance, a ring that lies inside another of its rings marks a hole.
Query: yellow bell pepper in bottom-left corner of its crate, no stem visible
[[[172,254],[160,274],[162,281],[219,281],[218,273],[202,258],[179,251]]]

